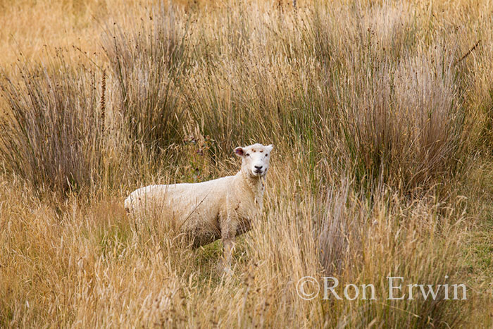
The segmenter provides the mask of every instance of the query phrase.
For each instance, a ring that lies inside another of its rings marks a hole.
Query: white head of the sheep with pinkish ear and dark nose
[[[273,145],[253,144],[249,147],[237,147],[235,154],[242,157],[242,170],[252,178],[261,178],[269,168],[270,151]]]

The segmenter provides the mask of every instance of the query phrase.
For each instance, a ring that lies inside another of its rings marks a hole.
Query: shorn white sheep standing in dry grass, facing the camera
[[[235,239],[251,230],[252,221],[263,209],[264,180],[272,150],[272,144],[237,147],[235,154],[242,158],[242,168],[236,175],[193,184],[142,187],[125,199],[125,210],[137,215],[158,207],[159,216],[173,221],[194,248],[221,239],[224,271],[232,273]]]

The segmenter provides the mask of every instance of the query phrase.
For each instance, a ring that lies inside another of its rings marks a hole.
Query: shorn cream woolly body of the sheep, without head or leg
[[[240,172],[194,184],[149,185],[132,192],[125,199],[125,209],[138,217],[151,209],[158,211],[163,220],[173,221],[175,228],[191,237],[194,247],[203,246],[220,239],[221,223],[227,221],[228,211],[242,219],[233,223],[238,230],[244,228],[246,232],[251,227],[249,221],[258,208],[252,199],[262,199],[263,191],[257,196],[245,191],[241,176]]]

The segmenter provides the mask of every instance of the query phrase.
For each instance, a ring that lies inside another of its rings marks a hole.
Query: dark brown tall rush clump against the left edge
[[[61,52],[46,66],[20,66],[20,80],[4,75],[9,116],[1,123],[6,170],[38,187],[68,191],[100,173],[104,123],[94,70],[73,68]]]

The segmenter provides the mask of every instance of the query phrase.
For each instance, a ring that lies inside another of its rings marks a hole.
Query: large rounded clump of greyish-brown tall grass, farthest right
[[[455,58],[431,48],[397,66],[369,58],[370,68],[358,64],[337,81],[343,142],[356,175],[382,175],[411,190],[456,172],[465,126]]]

